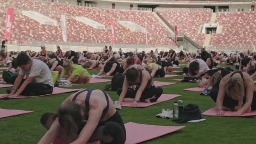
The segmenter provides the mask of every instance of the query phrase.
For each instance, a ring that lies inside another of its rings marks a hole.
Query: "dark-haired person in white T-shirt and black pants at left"
[[[19,75],[6,96],[40,96],[53,92],[51,71],[43,61],[30,59],[26,53],[21,53],[17,56],[17,64],[20,67]],[[23,79],[24,75],[26,79]]]

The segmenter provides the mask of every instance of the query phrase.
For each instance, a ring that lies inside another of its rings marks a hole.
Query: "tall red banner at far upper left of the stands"
[[[11,26],[13,24],[13,13],[14,9],[13,8],[7,8],[7,13],[6,13],[6,32],[5,32],[5,39],[10,40],[11,38]]]

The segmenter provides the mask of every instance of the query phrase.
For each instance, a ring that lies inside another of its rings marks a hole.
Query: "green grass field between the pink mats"
[[[96,74],[98,71],[90,71]],[[181,83],[172,79],[182,78],[183,76],[171,78],[157,78],[158,81],[176,82],[175,85],[163,86],[165,94],[181,94],[182,96],[171,101],[153,105],[147,108],[126,108],[118,112],[122,115],[125,123],[135,122],[151,125],[181,126],[185,128],[151,141],[145,144],[255,144],[256,119],[240,117],[210,117],[203,116],[206,121],[201,123],[178,124],[171,120],[157,118],[155,115],[161,113],[162,108],[171,109],[173,102],[178,99],[183,100],[184,104],[197,104],[201,111],[214,107],[215,103],[209,96],[200,96],[198,92],[184,91],[184,88],[197,87],[197,83]],[[104,89],[107,83],[75,85],[72,88],[99,88]],[[0,93],[5,93],[5,88],[0,89]],[[107,91],[112,100],[117,100],[116,92]],[[0,144],[36,144],[46,130],[40,125],[40,116],[44,112],[56,112],[71,93],[29,98],[0,100],[0,108],[34,110],[35,112],[15,117],[0,119]],[[136,129],[134,129],[136,131]],[[144,133],[141,133],[143,135]]]

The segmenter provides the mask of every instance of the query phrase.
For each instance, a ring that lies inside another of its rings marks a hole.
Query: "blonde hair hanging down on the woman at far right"
[[[245,88],[243,85],[243,79],[239,75],[234,75],[229,78],[226,84],[226,93],[234,100],[243,99],[245,96]]]

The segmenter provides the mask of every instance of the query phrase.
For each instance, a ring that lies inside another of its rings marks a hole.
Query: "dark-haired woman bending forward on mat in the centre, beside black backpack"
[[[136,88],[133,88],[133,86],[136,86]],[[162,88],[155,88],[149,72],[143,66],[136,65],[136,68],[131,67],[127,70],[123,88],[117,89],[117,94],[120,97],[119,101],[115,101],[115,107],[121,109],[123,100],[125,102],[132,102],[131,106],[137,107],[138,101],[147,103],[157,101],[162,93]]]

